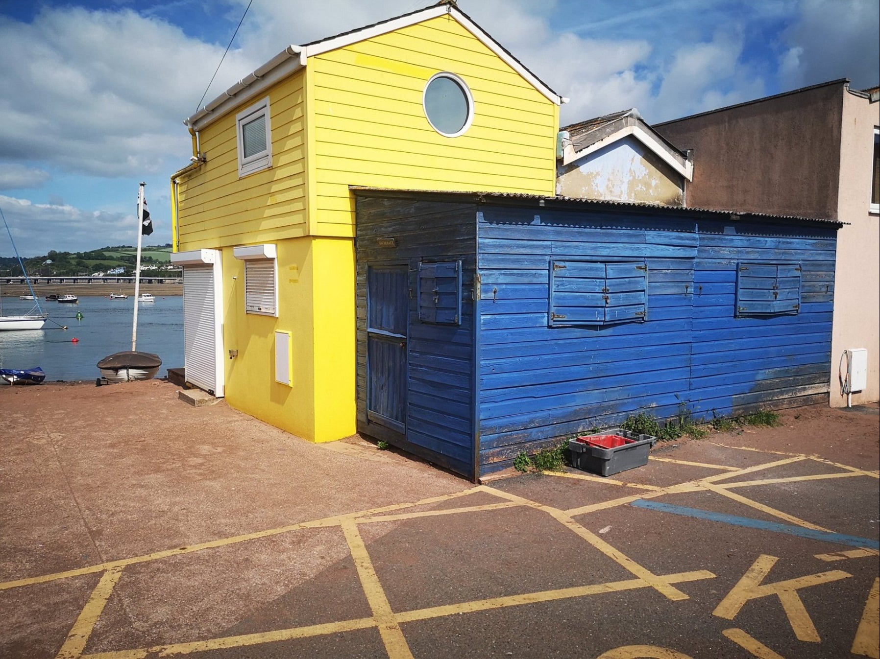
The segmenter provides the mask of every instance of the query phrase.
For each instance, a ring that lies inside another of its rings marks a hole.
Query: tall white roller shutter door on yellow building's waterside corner
[[[217,386],[217,348],[214,266],[183,267],[183,344],[187,382],[223,395]]]

